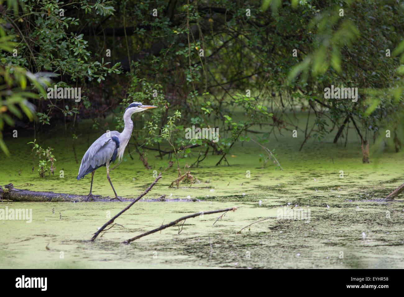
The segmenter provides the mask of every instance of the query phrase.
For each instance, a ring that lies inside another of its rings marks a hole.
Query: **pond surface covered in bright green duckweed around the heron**
[[[2,157],[0,185],[88,194],[90,176],[76,180],[80,164],[76,164],[70,138],[60,130],[50,128],[37,139],[42,147],[53,147],[57,158],[55,175],[44,178],[38,176],[38,159],[34,160],[32,147],[26,144],[33,139],[6,139],[12,157]],[[90,143],[101,135],[88,133]],[[310,138],[301,152],[303,135],[282,134],[276,135],[278,140],[271,135],[267,146],[276,149],[284,171],[270,162],[262,169],[259,154],[265,152],[251,141],[234,145],[227,155],[230,166],[215,166],[220,156],[209,155],[192,167],[191,174],[200,183],[169,188],[177,171],[168,169],[144,197],[165,194],[167,201],[137,202],[116,219],[119,225],[95,242],[88,240],[97,228],[130,202],[4,200],[0,209],[32,209],[32,222],[0,220],[0,268],[404,268],[403,195],[395,201],[383,200],[404,183],[403,153],[387,146],[378,158],[370,155],[370,164],[362,164],[353,131],[346,147],[345,139],[334,144],[335,135],[330,135],[322,142]],[[76,142],[79,162],[87,147],[85,134]],[[195,162],[197,152],[189,156],[188,164]],[[136,198],[154,181],[153,171],[162,171],[163,162],[155,155],[150,151],[147,156],[151,170],[144,169],[134,153],[134,160],[126,156],[111,171],[119,196]],[[105,167],[94,175],[93,194],[114,196]],[[189,202],[188,196],[201,201]],[[187,214],[232,206],[242,207],[216,223],[220,213],[187,219],[179,227],[129,245],[121,243]],[[296,210],[305,215],[280,219],[280,214],[285,218]]]

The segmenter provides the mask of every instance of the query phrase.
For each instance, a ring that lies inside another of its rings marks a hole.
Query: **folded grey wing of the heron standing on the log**
[[[88,148],[81,160],[80,169],[77,179],[81,179],[84,175],[104,166],[105,163],[111,161],[119,147],[119,140],[116,135],[118,131],[111,131],[101,135],[92,145]]]

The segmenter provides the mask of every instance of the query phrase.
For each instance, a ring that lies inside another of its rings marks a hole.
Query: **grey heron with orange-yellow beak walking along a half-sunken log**
[[[109,164],[113,163],[117,157],[118,160],[122,159],[122,156],[124,155],[126,145],[128,145],[130,135],[132,135],[133,131],[133,122],[130,119],[131,116],[136,112],[142,112],[143,110],[156,107],[157,106],[143,105],[139,102],[130,103],[124,112],[125,126],[122,133],[119,133],[118,131],[109,131],[101,135],[96,141],[93,142],[92,145],[90,145],[87,152],[84,154],[83,159],[81,160],[80,169],[77,175],[77,180],[79,180],[88,173],[91,173],[90,194],[88,194],[87,200],[90,197],[95,200],[95,196],[101,196],[91,194],[91,190],[93,189],[93,177],[94,172],[97,169],[99,169],[101,166],[106,166],[107,179],[115,194],[115,198],[112,198],[111,200],[118,199],[119,201],[122,201],[119,199],[122,197],[118,197],[114,186],[112,185],[111,179],[109,178]]]

